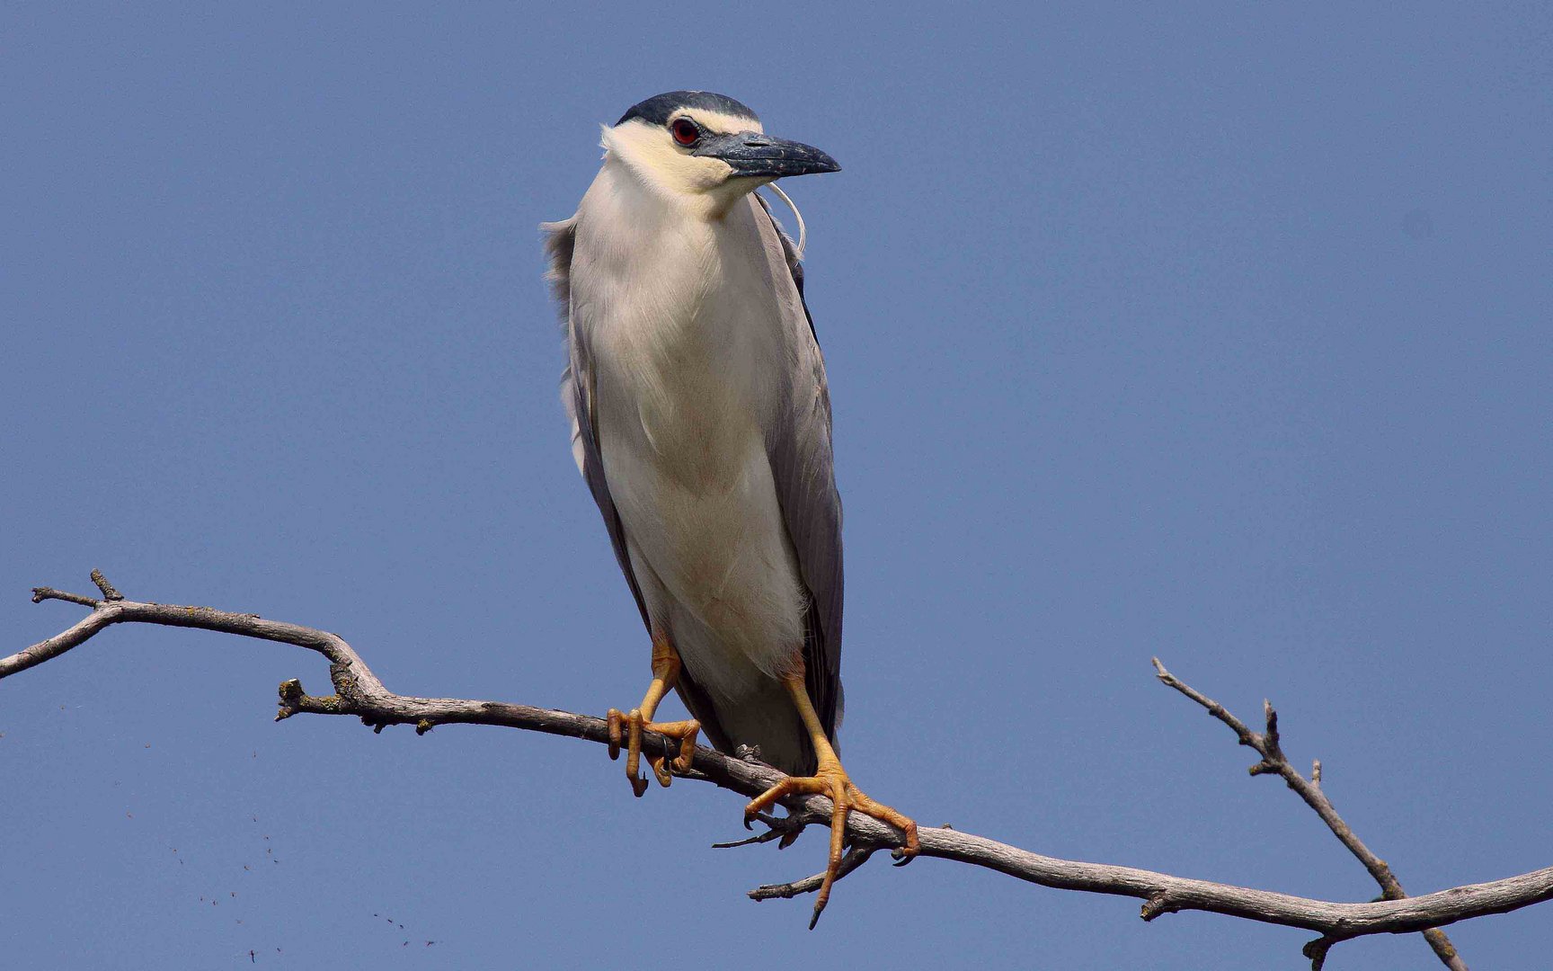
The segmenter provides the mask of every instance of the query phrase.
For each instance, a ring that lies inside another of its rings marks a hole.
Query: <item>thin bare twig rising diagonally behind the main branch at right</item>
[[[1305,778],[1294,767],[1294,764],[1289,763],[1287,757],[1284,757],[1278,738],[1278,712],[1273,710],[1270,701],[1263,701],[1263,716],[1267,722],[1267,730],[1256,733],[1247,729],[1246,722],[1239,718],[1230,715],[1224,705],[1166,671],[1159,657],[1154,659],[1154,671],[1162,682],[1193,699],[1207,708],[1208,715],[1213,715],[1227,724],[1235,732],[1236,738],[1241,740],[1242,746],[1247,746],[1261,755],[1261,761],[1250,767],[1252,775],[1275,774],[1281,777],[1291,789],[1298,792],[1300,799],[1305,800],[1305,805],[1315,809],[1315,814],[1322,817],[1326,828],[1331,830],[1345,847],[1348,847],[1350,853],[1359,858],[1359,862],[1362,862],[1364,868],[1370,872],[1374,882],[1381,884],[1381,900],[1402,900],[1407,896],[1407,893],[1402,892],[1401,881],[1398,881],[1396,875],[1391,873],[1391,867],[1388,867],[1384,859],[1371,853],[1370,847],[1364,845],[1364,840],[1354,836],[1354,831],[1348,828],[1343,817],[1337,814],[1332,802],[1326,799],[1326,794],[1322,791],[1322,760],[1317,758],[1311,763],[1311,778]],[[1451,943],[1451,938],[1446,937],[1444,931],[1429,927],[1423,934],[1424,940],[1429,941],[1429,946],[1433,948],[1435,955],[1441,960],[1441,963],[1444,963],[1444,966],[1451,968],[1451,971],[1468,971],[1466,962],[1461,960],[1460,954],[1457,954],[1455,945]],[[1320,940],[1314,940],[1306,945],[1306,957],[1311,959],[1311,966],[1315,968],[1315,971],[1320,971],[1322,963],[1326,960],[1326,952],[1340,940],[1340,937],[1332,938],[1331,935],[1323,935]]]

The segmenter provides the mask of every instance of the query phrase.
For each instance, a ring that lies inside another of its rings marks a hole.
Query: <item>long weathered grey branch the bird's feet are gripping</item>
[[[89,606],[92,607],[92,614],[56,637],[0,659],[0,679],[57,657],[112,625],[151,623],[199,628],[290,643],[317,651],[329,660],[329,677],[334,682],[334,694],[315,698],[304,693],[301,684],[297,680],[283,682],[276,721],[300,713],[354,715],[376,730],[382,730],[391,724],[410,724],[418,732],[429,732],[432,727],[443,724],[483,724],[565,735],[599,744],[609,743],[607,722],[589,715],[573,715],[572,712],[534,708],[497,701],[394,694],[382,685],[371,668],[367,666],[345,640],[325,631],[264,620],[255,614],[230,614],[213,607],[123,600],[112,586],[107,586],[106,579],[99,579],[99,589],[104,593],[102,600],[65,593],[50,587],[34,589],[34,601],[64,600]],[[1207,699],[1202,701],[1207,705],[1213,705]],[[1216,707],[1210,707],[1210,712]],[[1222,712],[1222,708],[1218,710]],[[1225,712],[1224,715],[1227,716],[1228,713]],[[1239,722],[1227,724],[1235,727]],[[1244,733],[1242,741],[1252,735],[1244,726],[1239,726],[1236,732]],[[677,753],[677,744],[674,740],[654,733],[649,733],[644,740],[644,749],[665,755]],[[686,777],[710,781],[741,795],[756,795],[783,778],[781,772],[770,766],[745,761],[705,747],[696,749],[694,769]],[[800,797],[787,803],[789,813],[801,823],[828,822],[829,808],[829,800],[822,795]],[[901,845],[899,833],[860,813],[851,814],[846,833],[853,845],[853,867],[860,865],[876,850]],[[1331,943],[1353,937],[1412,934],[1488,914],[1517,910],[1553,898],[1553,867],[1486,884],[1468,884],[1451,890],[1426,893],[1423,896],[1370,903],[1331,903],[1273,893],[1270,890],[1169,876],[1132,867],[1041,856],[1039,853],[947,827],[921,828],[919,837],[921,856],[986,867],[1017,879],[1059,890],[1135,896],[1145,901],[1141,907],[1143,920],[1154,920],[1162,914],[1177,910],[1205,910],[1269,924],[1315,931],[1322,934],[1322,941],[1326,941],[1323,952]],[[786,896],[786,890],[790,890],[794,895],[804,893],[811,889],[811,879],[803,879],[794,884],[778,884],[775,892],[767,895]],[[761,890],[755,893],[761,893]],[[1315,943],[1308,946],[1308,952]]]

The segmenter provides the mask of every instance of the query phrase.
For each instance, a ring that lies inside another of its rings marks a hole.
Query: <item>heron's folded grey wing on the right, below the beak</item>
[[[797,291],[792,308],[795,367],[778,421],[766,441],[776,499],[787,536],[798,553],[806,592],[803,660],[809,701],[834,744],[842,727],[842,497],[836,491],[831,454],[831,392],[814,317],[803,298],[803,266],[792,239],[783,233],[770,207],[755,194],[770,225],[761,233],[773,259],[786,266]],[[764,225],[763,225],[764,230]],[[780,245],[780,253],[776,247]],[[803,314],[803,322],[797,314]],[[804,326],[808,325],[808,326]]]

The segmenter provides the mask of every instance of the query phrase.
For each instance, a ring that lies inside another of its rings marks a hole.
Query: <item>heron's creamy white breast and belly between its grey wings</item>
[[[792,284],[770,277],[755,200],[708,222],[612,168],[578,211],[572,272],[604,472],[654,623],[705,688],[739,698],[803,643],[764,433],[790,367],[773,287]]]

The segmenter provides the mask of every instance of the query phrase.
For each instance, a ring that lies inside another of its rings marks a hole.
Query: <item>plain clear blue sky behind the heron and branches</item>
[[[335,631],[404,693],[640,698],[536,225],[598,123],[710,89],[845,166],[789,191],[859,785],[1048,854],[1374,896],[1157,654],[1247,718],[1270,696],[1410,890],[1550,862],[1545,5],[9,3],[0,30],[5,649],[79,615],[30,587],[101,567]],[[565,740],[272,724],[294,676],[326,685],[148,628],[0,685],[16,966],[1199,969],[1309,937],[938,861],[867,867],[809,934],[744,890],[817,870],[818,833],[710,850],[735,797],[634,800]],[[1528,966],[1553,912],[1451,934]]]

